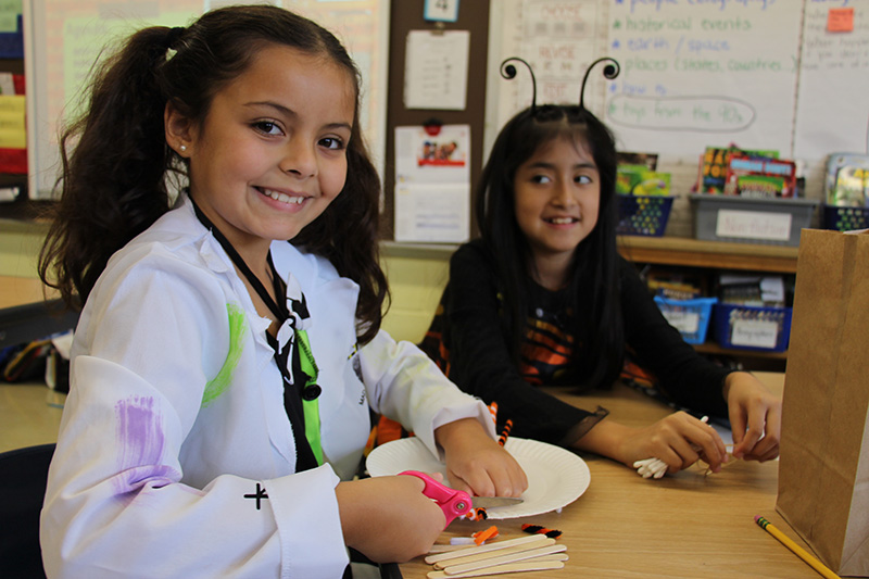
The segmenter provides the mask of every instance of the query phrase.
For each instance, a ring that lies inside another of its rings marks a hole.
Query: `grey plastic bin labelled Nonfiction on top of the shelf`
[[[692,193],[694,237],[768,246],[799,246],[820,204],[809,199],[751,199]]]

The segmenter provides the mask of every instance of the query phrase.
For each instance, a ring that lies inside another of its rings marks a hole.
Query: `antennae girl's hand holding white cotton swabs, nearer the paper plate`
[[[697,460],[721,469],[727,450],[718,432],[690,414],[677,412],[643,428],[602,420],[579,439],[577,446],[619,461],[630,467],[645,458],[660,458],[668,473],[688,468]]]

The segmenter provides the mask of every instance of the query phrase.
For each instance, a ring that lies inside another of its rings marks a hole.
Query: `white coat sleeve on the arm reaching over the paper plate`
[[[454,420],[477,418],[496,438],[486,404],[462,392],[416,345],[380,330],[360,355],[374,411],[413,430],[434,456],[440,456],[434,429]]]

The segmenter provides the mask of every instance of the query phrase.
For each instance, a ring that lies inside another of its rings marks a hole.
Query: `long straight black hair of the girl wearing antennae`
[[[476,196],[477,225],[494,260],[503,300],[504,331],[511,353],[519,363],[520,344],[528,315],[528,291],[532,284],[531,249],[519,229],[515,213],[516,169],[541,147],[566,138],[588,148],[601,175],[597,224],[577,247],[568,274],[570,333],[577,347],[584,342],[589,356],[574,361],[588,386],[607,386],[624,362],[625,329],[619,302],[616,249],[616,147],[609,129],[588,110],[577,105],[528,108],[501,130],[483,167]],[[580,313],[589,315],[581,315]]]

